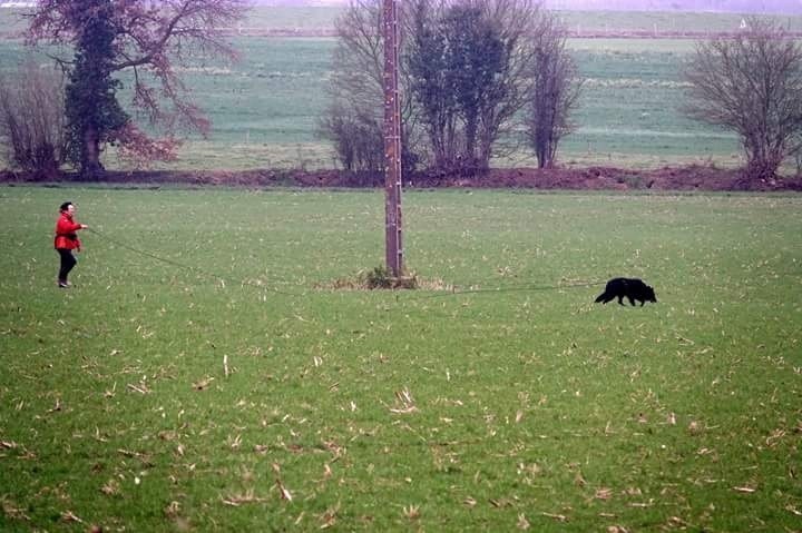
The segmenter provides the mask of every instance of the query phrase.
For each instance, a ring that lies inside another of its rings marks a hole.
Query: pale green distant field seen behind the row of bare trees
[[[339,12],[338,8],[261,9],[244,24],[324,28]],[[8,18],[0,12],[0,19],[3,16]],[[698,27],[722,31],[741,20],[739,16],[698,13],[561,16],[571,27],[599,29]],[[790,28],[802,27],[802,18],[782,20]],[[331,149],[315,129],[326,106],[324,90],[334,39],[238,37],[235,43],[242,51],[239,63],[207,65],[185,72],[214,129],[208,139],[189,139],[173,167],[331,167]],[[683,101],[678,69],[693,41],[573,39],[570,47],[588,81],[575,115],[578,129],[566,138],[560,151],[563,164],[655,167],[712,160],[721,166],[737,165],[737,145],[731,134],[689,121],[678,112]],[[0,40],[0,75],[13,69],[22,57],[19,41]],[[530,152],[519,150],[496,165],[534,162]]]

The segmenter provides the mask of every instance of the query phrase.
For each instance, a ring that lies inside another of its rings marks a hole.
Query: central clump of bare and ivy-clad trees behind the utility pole
[[[538,166],[554,165],[583,82],[550,12],[532,0],[411,0],[399,17],[407,170],[487,170],[517,148],[521,122]],[[368,176],[384,165],[381,19],[379,0],[354,0],[339,19],[321,121],[342,167]]]

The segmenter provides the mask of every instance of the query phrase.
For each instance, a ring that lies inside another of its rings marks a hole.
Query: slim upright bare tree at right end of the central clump
[[[560,139],[574,129],[569,117],[578,103],[583,80],[566,49],[565,28],[554,16],[540,19],[532,39],[535,60],[527,130],[538,167],[550,168]]]

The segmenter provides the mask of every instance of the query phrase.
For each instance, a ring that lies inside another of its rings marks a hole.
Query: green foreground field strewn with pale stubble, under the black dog
[[[379,191],[0,205],[2,531],[800,527],[799,197],[409,193],[451,290],[404,293],[320,288],[381,263]]]

